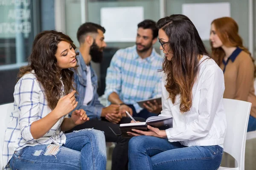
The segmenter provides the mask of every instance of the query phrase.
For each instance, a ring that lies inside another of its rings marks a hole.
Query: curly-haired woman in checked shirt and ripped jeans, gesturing
[[[84,110],[73,111],[77,102],[70,69],[76,68],[75,48],[70,37],[58,31],[35,37],[29,64],[20,68],[15,85],[3,150],[6,169],[105,169],[101,131],[63,133],[89,120]]]

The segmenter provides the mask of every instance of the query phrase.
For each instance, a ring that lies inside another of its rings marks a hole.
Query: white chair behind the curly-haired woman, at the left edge
[[[3,170],[3,143],[5,138],[5,131],[9,123],[9,116],[14,110],[13,103],[0,105],[0,170]]]

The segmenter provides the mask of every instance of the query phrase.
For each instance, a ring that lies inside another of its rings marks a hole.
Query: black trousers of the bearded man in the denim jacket
[[[143,118],[134,118],[137,121],[145,122]],[[123,117],[119,124],[130,123],[131,119],[129,117]],[[73,130],[81,130],[87,128],[94,128],[96,130],[102,130],[105,134],[106,142],[116,142],[116,147],[112,154],[112,167],[111,170],[127,170],[128,169],[128,143],[131,138],[122,139],[121,136],[116,136],[109,127],[111,127],[116,134],[121,133],[119,130],[119,124],[113,124],[108,122],[106,119],[97,120],[91,119],[84,124],[77,125],[71,130],[65,133],[73,132]]]

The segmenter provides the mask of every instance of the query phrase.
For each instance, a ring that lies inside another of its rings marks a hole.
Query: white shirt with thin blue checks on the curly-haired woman
[[[39,139],[32,137],[30,132],[32,122],[42,119],[52,111],[47,106],[43,87],[32,73],[25,74],[15,85],[14,111],[9,119],[3,147],[5,169],[10,169],[8,162],[15,150],[39,144],[62,145],[66,142],[66,136],[61,131],[61,123],[67,115],[61,117],[43,137]],[[62,91],[64,92],[64,89]]]

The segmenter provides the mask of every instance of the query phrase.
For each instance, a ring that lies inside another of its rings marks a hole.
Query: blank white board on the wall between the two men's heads
[[[105,42],[135,42],[137,25],[144,20],[144,8],[104,7],[100,17],[101,26],[106,29]]]

